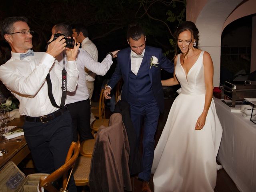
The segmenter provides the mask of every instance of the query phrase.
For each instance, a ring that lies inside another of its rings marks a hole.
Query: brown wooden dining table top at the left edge
[[[22,128],[24,124],[24,116],[15,118],[8,122],[8,126],[16,126],[15,129]],[[3,156],[0,156],[0,168],[2,168],[8,161],[13,161],[18,165],[28,154],[30,150],[26,143],[24,135],[18,136],[15,139],[5,140],[3,137],[0,138],[0,150],[6,150]]]

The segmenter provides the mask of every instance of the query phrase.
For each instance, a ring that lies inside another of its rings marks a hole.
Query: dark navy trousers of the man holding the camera
[[[23,130],[39,173],[50,174],[65,163],[73,135],[68,111],[46,123],[26,121]],[[73,176],[68,191],[76,192]]]

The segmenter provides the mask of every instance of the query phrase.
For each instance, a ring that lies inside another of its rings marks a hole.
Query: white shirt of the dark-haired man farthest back
[[[82,46],[82,49],[86,50],[95,61],[98,61],[98,50],[95,44],[88,37],[86,37],[82,41],[81,46]],[[85,74],[86,74],[86,77],[85,77],[86,81],[95,80],[96,74],[94,72],[90,72],[90,73],[85,72]]]

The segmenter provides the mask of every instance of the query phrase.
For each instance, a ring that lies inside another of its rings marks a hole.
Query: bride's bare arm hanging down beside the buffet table
[[[213,94],[213,63],[212,63],[212,58],[208,52],[204,52],[203,63],[204,63],[204,82],[205,82],[206,93],[205,93],[205,101],[204,101],[204,110],[196,122],[196,125],[195,125],[196,130],[201,130],[205,125],[205,119],[208,114],[210,104],[212,102],[212,94]]]

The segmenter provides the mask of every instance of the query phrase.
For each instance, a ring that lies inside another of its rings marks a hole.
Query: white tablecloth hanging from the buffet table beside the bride
[[[256,124],[214,102],[223,128],[217,159],[241,192],[256,192]]]

